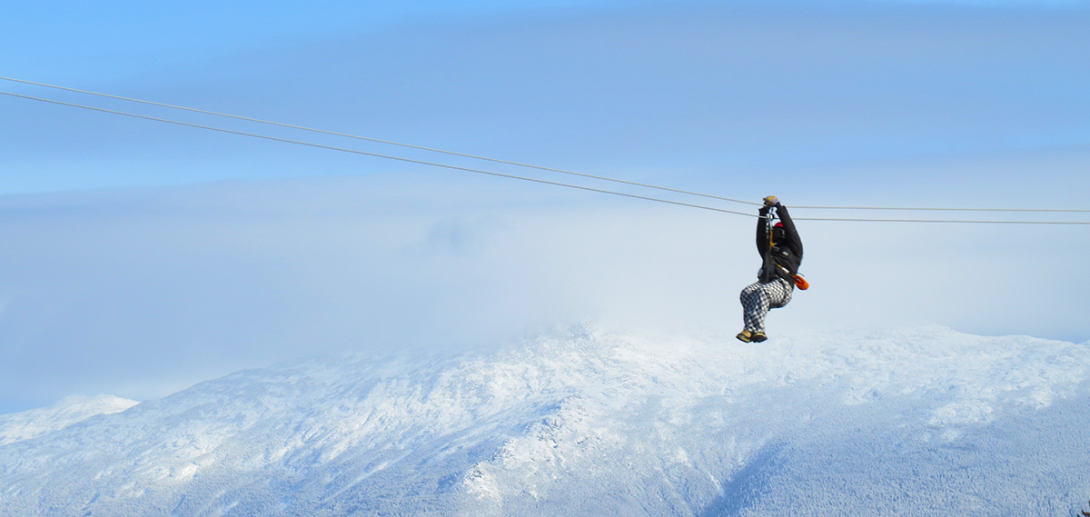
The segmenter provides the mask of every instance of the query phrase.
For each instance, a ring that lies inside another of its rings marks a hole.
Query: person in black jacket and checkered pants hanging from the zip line
[[[770,209],[775,208],[779,223],[770,227]],[[787,213],[787,207],[774,195],[764,199],[764,206],[758,212],[756,251],[761,253],[764,264],[758,273],[758,281],[742,289],[739,299],[742,302],[742,315],[746,328],[738,334],[738,339],[746,342],[761,342],[768,338],[764,334],[764,317],[770,309],[779,309],[791,301],[796,282],[806,289],[806,280],[799,274],[802,263],[802,240],[795,229],[795,221]]]

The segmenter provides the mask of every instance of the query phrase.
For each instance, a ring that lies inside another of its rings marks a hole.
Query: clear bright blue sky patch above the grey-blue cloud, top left
[[[110,80],[307,38],[382,31],[420,20],[618,2],[318,1],[28,2],[9,7],[5,65],[22,74]],[[48,63],[48,64],[46,64]]]

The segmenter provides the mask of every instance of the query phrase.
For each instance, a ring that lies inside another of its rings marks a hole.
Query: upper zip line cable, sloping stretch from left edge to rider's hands
[[[207,111],[207,110],[204,110],[204,109],[187,108],[185,106],[175,106],[175,105],[164,104],[164,103],[155,103],[155,101],[152,101],[152,100],[143,100],[143,99],[136,99],[136,98],[131,98],[131,97],[121,97],[121,96],[118,96],[118,95],[102,94],[102,93],[98,93],[98,92],[88,92],[86,89],[69,88],[69,87],[65,87],[65,86],[57,86],[57,85],[45,84],[45,83],[35,83],[35,82],[32,82],[32,81],[23,81],[23,80],[20,80],[20,79],[3,77],[3,76],[0,76],[0,80],[11,81],[11,82],[15,82],[15,83],[33,84],[35,86],[45,86],[47,88],[63,89],[63,91],[66,91],[66,92],[75,92],[75,93],[80,93],[80,94],[97,95],[99,97],[107,97],[107,98],[119,99],[119,100],[128,100],[128,101],[131,101],[131,103],[146,104],[146,105],[159,106],[159,107],[164,107],[164,108],[181,109],[181,110],[184,110],[184,111],[192,111],[194,113],[211,115],[211,116],[216,116],[216,117],[226,117],[226,118],[235,119],[235,120],[245,120],[247,122],[257,122],[257,123],[269,124],[269,125],[278,125],[278,127],[281,127],[281,128],[290,128],[290,129],[295,129],[295,130],[301,130],[301,131],[311,131],[311,132],[314,132],[314,133],[330,134],[330,135],[334,135],[334,136],[344,136],[344,137],[348,137],[348,139],[364,140],[364,141],[367,141],[367,142],[376,142],[376,143],[379,143],[379,144],[398,145],[398,146],[401,146],[401,147],[408,147],[408,148],[412,148],[412,149],[428,151],[428,152],[432,152],[432,153],[441,153],[441,154],[451,155],[451,156],[461,156],[463,158],[473,158],[473,159],[480,159],[480,160],[485,160],[485,161],[494,161],[494,163],[497,163],[497,164],[513,165],[513,166],[517,166],[517,167],[526,167],[526,168],[530,168],[530,169],[547,170],[549,172],[560,172],[562,175],[581,176],[583,178],[592,178],[592,179],[595,179],[595,180],[613,181],[615,183],[625,183],[625,184],[630,184],[630,185],[635,185],[635,187],[644,187],[644,188],[647,188],[647,189],[657,189],[657,190],[663,190],[663,191],[668,191],[668,192],[677,192],[679,194],[697,195],[697,196],[701,196],[701,197],[708,197],[708,199],[720,200],[720,201],[729,201],[729,202],[732,202],[732,203],[742,203],[742,204],[747,204],[747,205],[756,205],[756,206],[761,205],[761,203],[753,203],[752,201],[732,200],[730,197],[720,197],[718,195],[703,194],[703,193],[700,193],[700,192],[690,192],[690,191],[679,190],[679,189],[671,189],[669,187],[659,187],[659,185],[653,185],[653,184],[649,184],[649,183],[639,183],[639,182],[635,182],[635,181],[619,180],[619,179],[616,179],[616,178],[607,178],[607,177],[604,177],[604,176],[586,175],[586,173],[583,173],[583,172],[573,172],[573,171],[570,171],[570,170],[554,169],[554,168],[550,168],[550,167],[542,167],[542,166],[537,166],[537,165],[522,164],[522,163],[519,163],[519,161],[509,161],[509,160],[505,160],[505,159],[489,158],[487,156],[477,156],[477,155],[471,155],[471,154],[465,154],[465,153],[457,153],[457,152],[453,152],[453,151],[437,149],[437,148],[434,148],[434,147],[424,147],[424,146],[421,146],[421,145],[404,144],[404,143],[401,143],[401,142],[393,142],[393,141],[389,141],[389,140],[379,140],[379,139],[372,139],[372,137],[368,137],[368,136],[360,136],[360,135],[348,134],[348,133],[338,133],[336,131],[326,131],[326,130],[320,130],[320,129],[306,128],[306,127],[303,127],[303,125],[286,124],[286,123],[282,123],[282,122],[274,122],[274,121],[270,121],[270,120],[252,119],[250,117],[240,117],[238,115],[220,113],[220,112],[217,112],[217,111]]]

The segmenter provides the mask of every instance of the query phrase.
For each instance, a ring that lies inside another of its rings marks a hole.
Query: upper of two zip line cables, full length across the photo
[[[747,205],[761,206],[761,203],[754,203],[754,202],[744,201],[744,200],[735,200],[735,199],[731,199],[731,197],[723,197],[723,196],[712,195],[712,194],[704,194],[702,192],[692,192],[692,191],[686,191],[686,190],[680,190],[680,189],[673,189],[673,188],[669,188],[669,187],[661,187],[661,185],[654,185],[654,184],[650,184],[650,183],[640,183],[640,182],[635,182],[635,181],[628,181],[628,180],[621,180],[621,179],[616,179],[616,178],[608,178],[608,177],[604,177],[604,176],[594,176],[594,175],[588,175],[588,173],[583,173],[583,172],[574,172],[574,171],[570,171],[570,170],[555,169],[555,168],[552,168],[552,167],[542,167],[542,166],[536,166],[536,165],[532,165],[532,164],[524,164],[524,163],[519,163],[519,161],[510,161],[510,160],[498,159],[498,158],[489,158],[487,156],[471,155],[471,154],[458,153],[458,152],[453,152],[453,151],[439,149],[439,148],[435,148],[435,147],[425,147],[425,146],[421,146],[421,145],[413,145],[413,144],[405,144],[405,143],[401,143],[401,142],[393,142],[393,141],[389,141],[389,140],[372,139],[372,137],[368,137],[368,136],[360,136],[360,135],[354,135],[354,134],[349,134],[349,133],[340,133],[340,132],[336,132],[336,131],[327,131],[327,130],[322,130],[322,129],[307,128],[307,127],[303,127],[303,125],[288,124],[288,123],[275,122],[275,121],[270,121],[270,120],[254,119],[254,118],[250,118],[250,117],[241,117],[241,116],[238,116],[238,115],[230,115],[230,113],[222,113],[222,112],[218,112],[218,111],[209,111],[209,110],[204,110],[204,109],[190,108],[190,107],[186,107],[186,106],[178,106],[178,105],[171,105],[171,104],[166,104],[166,103],[156,103],[154,100],[144,100],[144,99],[137,99],[137,98],[133,98],[133,97],[122,97],[120,95],[111,95],[111,94],[104,94],[104,93],[100,93],[100,92],[90,92],[90,91],[87,91],[87,89],[71,88],[71,87],[68,87],[68,86],[59,86],[59,85],[56,85],[56,84],[38,83],[38,82],[34,82],[34,81],[25,81],[25,80],[21,80],[21,79],[4,77],[4,76],[0,76],[0,80],[10,81],[10,82],[13,82],[13,83],[29,84],[29,85],[34,85],[34,86],[43,86],[43,87],[53,88],[53,89],[61,89],[61,91],[65,91],[65,92],[74,92],[74,93],[85,94],[85,95],[95,95],[95,96],[98,96],[98,97],[106,97],[106,98],[111,98],[111,99],[125,100],[125,101],[130,101],[130,103],[140,103],[140,104],[145,104],[145,105],[149,105],[149,106],[158,106],[158,107],[162,107],[162,108],[179,109],[179,110],[183,110],[183,111],[191,111],[191,112],[194,112],[194,113],[211,115],[211,116],[215,116],[215,117],[223,117],[223,118],[235,119],[235,120],[244,120],[244,121],[247,121],[247,122],[257,122],[257,123],[262,123],[262,124],[277,125],[277,127],[280,127],[280,128],[289,128],[289,129],[295,129],[295,130],[301,130],[301,131],[311,131],[311,132],[314,132],[314,133],[329,134],[329,135],[334,135],[334,136],[343,136],[343,137],[348,137],[348,139],[362,140],[362,141],[366,141],[366,142],[375,142],[375,143],[379,143],[379,144],[397,145],[397,146],[408,147],[408,148],[412,148],[412,149],[427,151],[427,152],[432,152],[432,153],[441,153],[441,154],[451,155],[451,156],[460,156],[460,157],[463,157],[463,158],[472,158],[472,159],[480,159],[480,160],[485,160],[485,161],[493,161],[493,163],[496,163],[496,164],[505,164],[505,165],[512,165],[512,166],[517,166],[517,167],[525,167],[525,168],[530,168],[530,169],[546,170],[546,171],[549,171],[549,172],[560,172],[560,173],[564,173],[564,175],[580,176],[580,177],[583,177],[583,178],[592,178],[592,179],[595,179],[595,180],[611,181],[611,182],[615,182],[615,183],[623,183],[623,184],[630,184],[630,185],[635,185],[635,187],[643,187],[643,188],[647,188],[647,189],[656,189],[656,190],[662,190],[662,191],[667,191],[667,192],[676,192],[676,193],[679,193],[679,194],[695,195],[695,196],[707,197],[707,199],[712,199],[712,200],[729,201],[731,203],[742,203],[742,204],[747,204]],[[836,209],[836,211],[1090,213],[1090,209],[1077,209],[1077,208],[1076,209],[1073,209],[1073,208],[937,208],[937,207],[803,206],[803,205],[797,205],[795,207],[796,208],[811,208],[811,209]],[[831,219],[831,220],[839,220],[839,219]]]

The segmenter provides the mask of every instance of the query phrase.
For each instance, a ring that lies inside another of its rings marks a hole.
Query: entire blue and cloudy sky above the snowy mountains
[[[729,197],[1088,207],[1085,2],[89,5],[9,10],[0,75]],[[737,216],[10,97],[0,113],[0,411],[585,318],[729,336],[756,267]],[[1086,231],[810,224],[815,289],[774,323],[1082,341],[1065,272]]]

